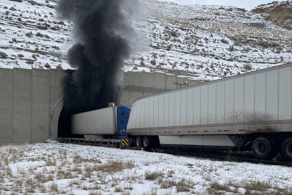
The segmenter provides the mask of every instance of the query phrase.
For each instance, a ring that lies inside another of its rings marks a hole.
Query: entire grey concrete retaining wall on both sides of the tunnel
[[[66,70],[57,69],[0,68],[0,143],[56,139],[65,73]],[[132,105],[137,98],[157,93],[148,88],[173,90],[188,86],[180,84],[186,81],[189,86],[199,83],[164,73],[125,72],[123,84],[138,90],[123,90],[120,103]]]

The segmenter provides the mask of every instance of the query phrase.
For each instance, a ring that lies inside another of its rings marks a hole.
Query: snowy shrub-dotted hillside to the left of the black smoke
[[[55,15],[56,1],[0,2],[0,67],[71,68],[72,25]]]

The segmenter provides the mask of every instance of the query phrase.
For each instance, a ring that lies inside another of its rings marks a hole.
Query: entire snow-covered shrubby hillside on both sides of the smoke
[[[142,0],[148,15],[134,28],[148,40],[125,71],[159,71],[214,80],[291,62],[292,31],[230,6]],[[0,2],[0,67],[71,68],[72,24],[56,17],[56,0]],[[31,32],[31,33],[30,33]],[[144,39],[145,40],[145,39]]]

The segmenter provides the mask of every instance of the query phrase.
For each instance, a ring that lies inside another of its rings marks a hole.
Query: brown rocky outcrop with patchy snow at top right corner
[[[276,23],[278,26],[292,30],[292,1],[274,1],[262,4],[251,10],[260,14],[267,21]]]

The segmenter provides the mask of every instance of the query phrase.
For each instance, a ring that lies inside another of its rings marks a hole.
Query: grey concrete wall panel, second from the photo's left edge
[[[32,71],[13,69],[13,143],[31,141]]]

